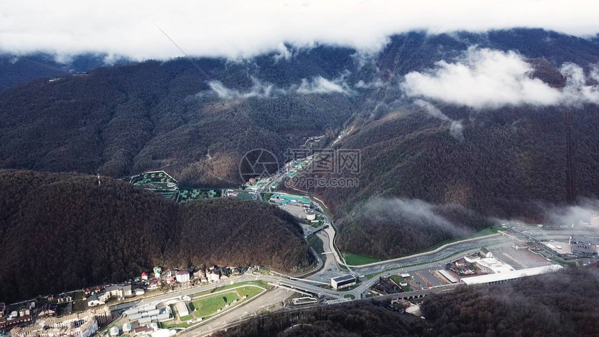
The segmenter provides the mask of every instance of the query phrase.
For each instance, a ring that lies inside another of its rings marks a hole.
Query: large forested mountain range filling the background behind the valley
[[[529,102],[522,95],[485,105],[479,103],[484,93],[473,91],[461,104],[443,97],[459,84],[439,87],[431,94],[437,99],[410,93],[406,85],[406,75],[444,74],[450,66],[481,61],[474,52],[482,51],[511,62],[485,76],[509,75],[513,62],[521,62],[527,71],[515,80],[543,87],[531,93],[566,95],[574,76],[582,77],[579,86],[597,85],[596,42],[542,29],[442,33],[401,68],[426,38],[423,32],[392,36],[375,54],[287,46],[288,54],[194,60],[212,82],[178,58],[8,88],[0,93],[0,167],[114,177],[160,168],[184,183],[224,187],[241,182],[238,163],[248,150],[271,150],[281,162],[287,148],[325,135],[317,146],[361,153],[359,187],[316,191],[338,220],[339,245],[396,256],[473,233],[488,226],[488,217],[541,219],[539,205],[566,203],[567,110],[576,196],[597,197],[596,102]],[[563,67],[569,65],[567,79]],[[596,95],[592,88],[588,93]],[[425,219],[362,214],[417,201],[427,203]],[[448,226],[429,226],[439,219]],[[386,253],[364,244],[357,222]]]

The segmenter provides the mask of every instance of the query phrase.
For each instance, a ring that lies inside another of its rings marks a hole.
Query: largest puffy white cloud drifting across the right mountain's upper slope
[[[599,102],[598,88],[585,84],[584,73],[577,65],[561,68],[568,78],[562,91],[531,78],[532,71],[531,65],[515,52],[470,47],[454,63],[439,61],[426,72],[406,74],[400,86],[408,96],[476,109]]]

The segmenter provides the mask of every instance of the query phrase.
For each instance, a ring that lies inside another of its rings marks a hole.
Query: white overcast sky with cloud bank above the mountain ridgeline
[[[526,26],[595,35],[597,13],[599,1],[0,0],[0,50],[181,56],[157,24],[194,56],[254,56],[283,42],[376,51],[393,33],[442,24],[442,32]]]

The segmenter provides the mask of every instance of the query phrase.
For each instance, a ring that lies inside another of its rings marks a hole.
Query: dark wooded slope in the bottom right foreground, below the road
[[[432,295],[425,320],[360,301],[272,313],[219,336],[597,336],[597,265]]]

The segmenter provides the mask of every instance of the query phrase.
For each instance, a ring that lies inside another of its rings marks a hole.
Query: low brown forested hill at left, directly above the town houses
[[[0,214],[3,301],[124,281],[155,265],[293,271],[313,262],[295,219],[265,203],[174,203],[111,178],[98,186],[92,175],[1,170]]]

